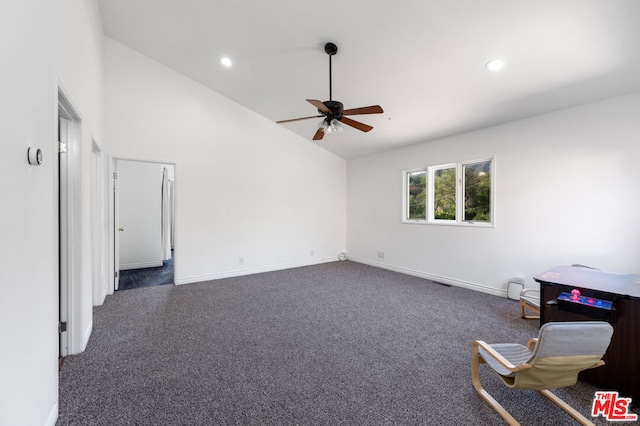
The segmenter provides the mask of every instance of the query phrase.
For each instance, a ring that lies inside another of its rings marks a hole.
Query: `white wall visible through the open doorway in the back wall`
[[[162,266],[162,166],[117,162],[120,270]]]

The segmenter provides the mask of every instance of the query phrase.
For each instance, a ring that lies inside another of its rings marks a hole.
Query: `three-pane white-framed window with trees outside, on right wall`
[[[493,225],[493,158],[404,172],[404,222]]]

